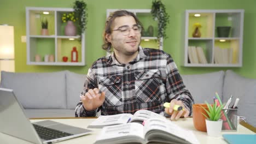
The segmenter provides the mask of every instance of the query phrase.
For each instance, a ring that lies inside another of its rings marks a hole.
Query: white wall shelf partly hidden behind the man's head
[[[117,11],[120,9],[107,9],[107,17],[110,13],[113,13],[114,11]],[[139,21],[142,22],[142,25],[144,27],[144,33],[142,33],[141,37],[141,46],[147,47],[147,48],[154,48],[162,50],[163,45],[158,45],[158,21],[153,20],[152,14],[150,13],[151,9],[122,9],[131,11],[134,13]],[[153,35],[150,35],[148,33],[148,28],[153,27]],[[150,36],[148,36],[150,35]],[[163,39],[160,40],[161,44],[163,43]]]

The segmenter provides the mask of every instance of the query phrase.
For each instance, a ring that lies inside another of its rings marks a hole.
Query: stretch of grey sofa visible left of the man
[[[1,72],[3,88],[14,90],[28,117],[74,117],[85,75],[71,71],[54,73]]]

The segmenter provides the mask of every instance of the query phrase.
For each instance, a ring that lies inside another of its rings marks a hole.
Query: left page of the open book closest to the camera
[[[139,123],[126,123],[104,127],[95,143],[144,143],[144,127]]]

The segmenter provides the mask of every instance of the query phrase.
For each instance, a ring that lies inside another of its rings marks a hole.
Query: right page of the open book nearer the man
[[[162,118],[166,119],[166,117],[159,115],[158,113],[148,111],[148,110],[138,110],[133,114],[133,117],[131,118],[131,122],[139,121],[143,122],[146,119],[149,118]]]

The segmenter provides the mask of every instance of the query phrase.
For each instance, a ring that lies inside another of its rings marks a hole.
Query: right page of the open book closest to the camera
[[[151,137],[165,137],[165,140],[176,143],[199,143],[192,131],[185,130],[169,119],[150,118],[145,122],[144,133],[146,139]],[[155,134],[154,134],[155,133]],[[155,141],[162,141],[156,138]]]

